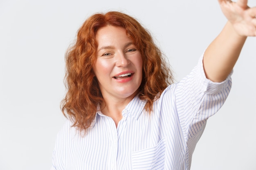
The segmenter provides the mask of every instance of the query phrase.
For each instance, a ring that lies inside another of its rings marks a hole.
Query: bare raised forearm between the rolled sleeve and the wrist
[[[232,71],[246,37],[240,36],[227,22],[221,33],[208,46],[204,53],[204,72],[213,82],[222,82]]]

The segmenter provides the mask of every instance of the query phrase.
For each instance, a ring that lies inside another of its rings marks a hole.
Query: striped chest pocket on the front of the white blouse
[[[161,139],[153,148],[132,152],[132,169],[163,170],[166,139]]]

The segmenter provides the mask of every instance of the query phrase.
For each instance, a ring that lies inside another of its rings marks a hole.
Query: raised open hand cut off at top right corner
[[[241,36],[256,36],[256,7],[247,6],[247,0],[218,0],[222,12]]]

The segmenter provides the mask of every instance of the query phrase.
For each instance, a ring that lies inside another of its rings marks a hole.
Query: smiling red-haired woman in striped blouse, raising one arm
[[[207,119],[229,94],[246,37],[256,35],[255,7],[219,3],[229,21],[177,84],[135,19],[119,12],[88,18],[66,55],[69,119],[52,169],[189,170]]]

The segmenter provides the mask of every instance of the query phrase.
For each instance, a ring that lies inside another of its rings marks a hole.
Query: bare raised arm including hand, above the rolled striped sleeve
[[[204,72],[213,82],[222,82],[232,71],[247,36],[256,36],[256,7],[247,0],[218,0],[227,24],[204,53]]]

